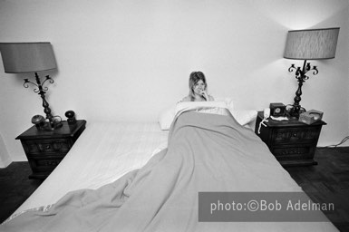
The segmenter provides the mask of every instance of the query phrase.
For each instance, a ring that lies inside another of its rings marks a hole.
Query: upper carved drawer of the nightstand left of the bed
[[[24,140],[22,142],[25,153],[37,154],[47,152],[67,153],[72,145],[68,139],[61,140]]]

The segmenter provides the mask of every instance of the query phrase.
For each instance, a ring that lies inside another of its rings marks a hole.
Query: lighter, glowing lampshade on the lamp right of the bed
[[[294,60],[332,59],[339,27],[288,31],[284,58]]]

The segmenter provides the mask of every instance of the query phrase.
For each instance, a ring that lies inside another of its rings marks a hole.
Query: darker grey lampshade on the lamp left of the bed
[[[56,62],[51,43],[0,43],[5,73],[51,70]]]

